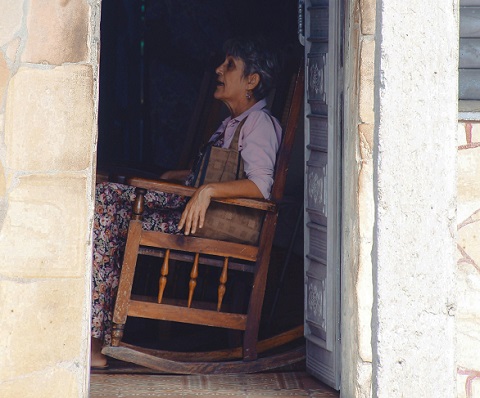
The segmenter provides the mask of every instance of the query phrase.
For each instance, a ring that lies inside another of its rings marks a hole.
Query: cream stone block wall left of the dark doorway
[[[99,2],[0,1],[0,396],[88,394]]]

